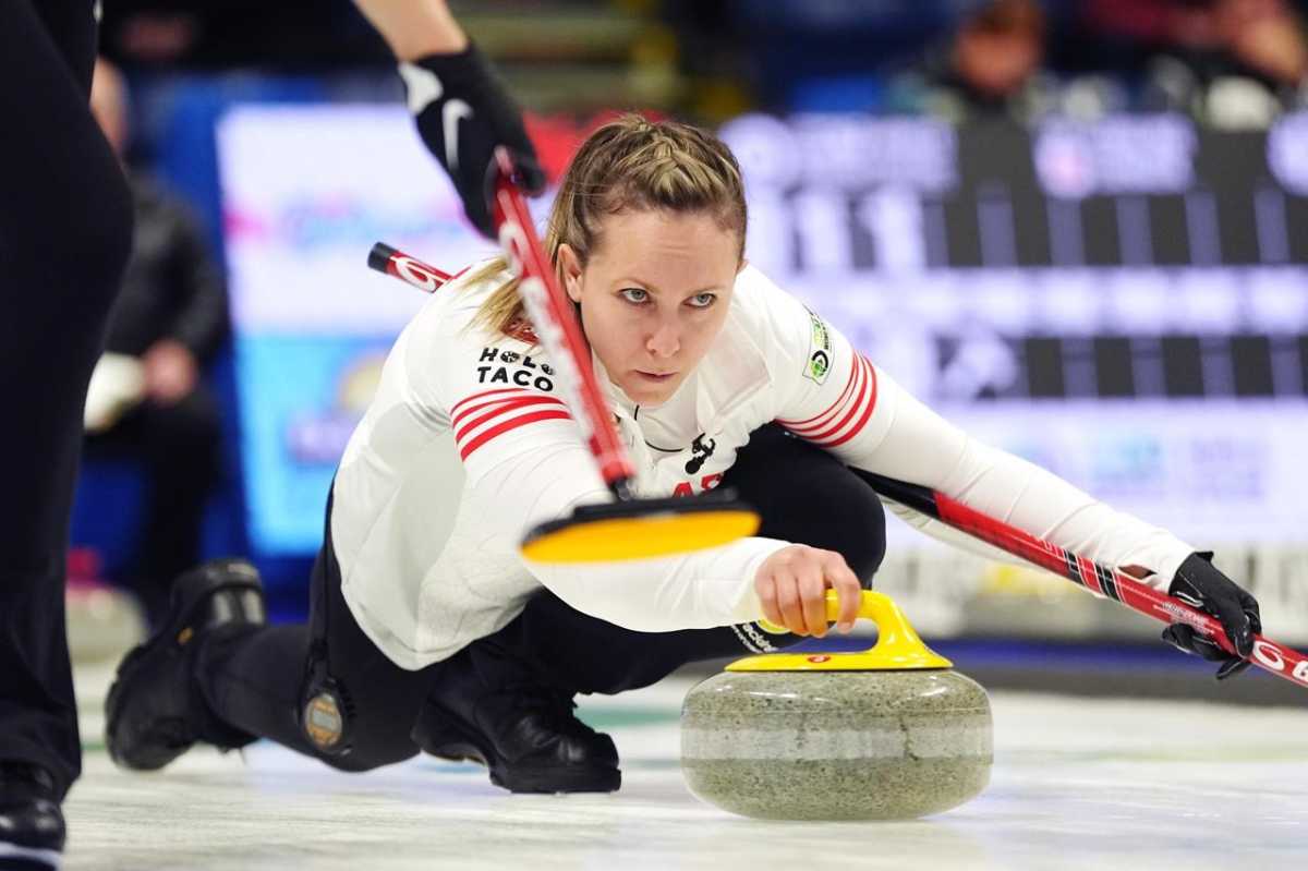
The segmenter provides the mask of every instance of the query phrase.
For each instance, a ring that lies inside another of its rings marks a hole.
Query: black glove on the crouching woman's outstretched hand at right
[[[1184,623],[1173,623],[1164,629],[1163,641],[1185,653],[1220,662],[1218,680],[1239,675],[1249,667],[1253,637],[1262,632],[1258,603],[1253,596],[1213,568],[1213,564],[1199,553],[1192,553],[1185,558],[1176,570],[1168,592],[1185,604],[1216,617],[1240,655],[1232,657],[1215,641]]]

